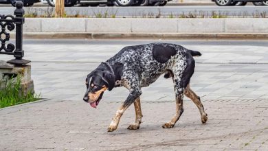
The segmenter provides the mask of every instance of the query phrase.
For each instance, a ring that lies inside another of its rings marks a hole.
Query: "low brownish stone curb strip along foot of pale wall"
[[[11,34],[14,38],[14,33]],[[268,39],[268,34],[259,33],[213,33],[213,34],[189,34],[189,33],[173,33],[173,34],[155,34],[155,33],[23,33],[23,38],[32,39],[56,39],[56,38],[66,38],[66,39]]]

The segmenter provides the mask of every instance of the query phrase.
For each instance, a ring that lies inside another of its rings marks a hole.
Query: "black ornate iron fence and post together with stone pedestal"
[[[34,81],[31,78],[31,65],[26,65],[30,60],[24,60],[23,51],[23,3],[16,1],[14,15],[0,15],[0,54],[13,55],[14,59],[8,63],[0,60],[0,89],[1,82],[16,78],[21,75],[21,93],[27,95],[34,93]],[[16,46],[9,42],[10,33],[16,27]],[[9,31],[9,32],[8,32]],[[3,79],[3,81],[2,81]]]

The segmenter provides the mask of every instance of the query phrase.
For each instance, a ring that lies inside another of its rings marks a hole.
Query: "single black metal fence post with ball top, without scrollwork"
[[[8,63],[15,65],[25,65],[30,60],[24,60],[24,51],[23,51],[23,23],[24,23],[24,10],[23,2],[16,1],[16,10],[14,11],[14,23],[16,24],[16,49],[14,51],[15,59],[9,60]]]

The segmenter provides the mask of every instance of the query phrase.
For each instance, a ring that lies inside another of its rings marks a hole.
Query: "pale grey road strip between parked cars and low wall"
[[[51,12],[52,8],[34,7],[25,8],[26,13],[45,14]],[[107,16],[115,15],[116,17],[151,17],[154,18],[157,14],[161,16],[177,17],[181,14],[192,14],[197,16],[212,16],[213,12],[221,13],[227,16],[252,16],[252,14],[268,13],[267,6],[230,6],[219,7],[216,5],[203,6],[164,6],[164,7],[71,7],[65,8],[67,15],[80,14],[83,16],[96,17],[98,15],[107,14]],[[0,14],[13,14],[14,8],[1,7]]]

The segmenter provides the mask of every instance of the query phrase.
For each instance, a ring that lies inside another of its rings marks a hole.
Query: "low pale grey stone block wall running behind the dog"
[[[235,34],[268,34],[268,19],[112,19],[112,18],[36,18],[25,19],[23,32],[28,36],[82,38],[203,38],[233,37]],[[109,36],[105,36],[109,35]],[[184,36],[186,35],[186,36]],[[189,36],[188,36],[189,35]],[[209,36],[208,36],[209,35]],[[229,35],[229,36],[228,36]],[[220,36],[221,37],[221,36]],[[241,36],[240,36],[241,37]],[[244,36],[242,36],[244,37]],[[245,36],[247,37],[247,36]],[[255,36],[250,36],[255,37]]]

